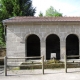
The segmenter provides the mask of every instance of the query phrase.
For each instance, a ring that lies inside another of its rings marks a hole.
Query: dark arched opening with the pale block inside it
[[[46,38],[46,59],[51,58],[60,59],[60,39],[55,34]]]

